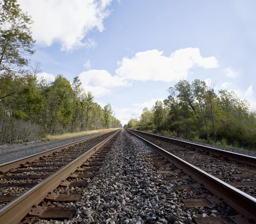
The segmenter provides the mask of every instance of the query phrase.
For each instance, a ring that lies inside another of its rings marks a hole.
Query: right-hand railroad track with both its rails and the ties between
[[[148,144],[153,145],[160,154],[187,174],[181,178],[177,172],[174,172],[166,177],[167,179],[179,181],[180,178],[189,179],[192,177],[198,181],[198,184],[193,187],[200,188],[204,186],[249,218],[249,221],[255,223],[255,157],[217,150],[137,130],[129,131],[148,142]],[[188,186],[188,188],[190,187]],[[244,221],[238,223],[244,223]]]

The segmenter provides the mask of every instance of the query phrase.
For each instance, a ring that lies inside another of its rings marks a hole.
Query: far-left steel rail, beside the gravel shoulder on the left
[[[0,174],[8,172],[10,169],[15,169],[17,167],[20,167],[20,164],[26,164],[26,163],[29,164],[30,162],[33,162],[33,161],[35,161],[36,159],[39,159],[42,156],[49,156],[50,154],[52,154],[54,152],[58,152],[58,151],[60,151],[62,149],[65,149],[67,147],[75,146],[75,145],[80,144],[82,142],[87,142],[91,139],[95,139],[99,136],[111,133],[113,131],[116,131],[116,130],[108,131],[108,132],[102,133],[100,135],[92,136],[92,137],[89,137],[89,138],[86,138],[86,139],[82,139],[82,140],[79,140],[79,141],[76,141],[76,142],[72,142],[72,143],[67,144],[67,145],[62,145],[62,146],[59,146],[59,147],[56,147],[56,148],[53,148],[53,149],[49,149],[49,150],[46,150],[46,151],[41,152],[41,153],[36,153],[36,154],[30,155],[30,156],[26,156],[26,157],[23,157],[23,158],[20,158],[20,159],[15,159],[13,161],[0,164]]]

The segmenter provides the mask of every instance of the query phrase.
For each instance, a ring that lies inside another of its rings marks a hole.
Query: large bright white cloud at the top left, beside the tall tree
[[[95,47],[96,42],[84,37],[104,30],[103,21],[110,15],[112,0],[18,0],[23,11],[32,16],[33,37],[37,44],[60,43],[61,50]]]

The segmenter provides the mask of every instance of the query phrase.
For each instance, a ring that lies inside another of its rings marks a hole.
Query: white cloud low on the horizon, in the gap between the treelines
[[[143,103],[133,104],[135,108],[114,108],[114,111],[116,112],[116,117],[121,121],[122,125],[125,125],[128,123],[130,118],[139,119],[143,109],[147,107],[150,110],[157,100],[163,102],[164,99],[151,99],[150,101],[145,101]]]

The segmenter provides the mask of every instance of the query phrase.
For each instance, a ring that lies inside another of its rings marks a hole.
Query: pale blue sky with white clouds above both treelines
[[[209,80],[256,106],[256,1],[19,0],[49,81],[79,76],[122,124],[180,79]]]

